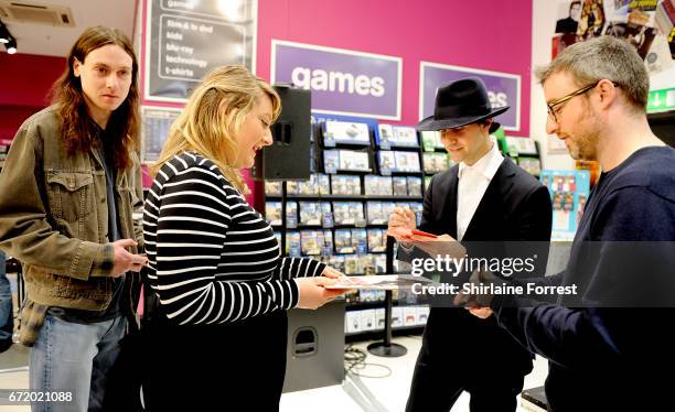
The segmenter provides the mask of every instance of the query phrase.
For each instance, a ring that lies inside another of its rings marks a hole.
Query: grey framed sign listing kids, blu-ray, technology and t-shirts
[[[256,1],[146,1],[143,99],[185,102],[215,67],[255,73]]]

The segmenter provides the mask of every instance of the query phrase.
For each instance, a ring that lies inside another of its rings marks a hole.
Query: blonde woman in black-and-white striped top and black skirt
[[[323,286],[341,274],[312,259],[280,258],[271,227],[244,198],[237,169],[271,143],[279,112],[276,91],[246,68],[215,69],[154,165],[143,215],[160,312],[146,329],[150,411],[278,410],[286,311],[339,295]]]

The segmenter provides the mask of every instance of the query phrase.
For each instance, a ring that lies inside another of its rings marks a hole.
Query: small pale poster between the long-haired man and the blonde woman
[[[171,124],[181,109],[169,107],[141,107],[141,162],[152,163],[159,159],[169,137]]]

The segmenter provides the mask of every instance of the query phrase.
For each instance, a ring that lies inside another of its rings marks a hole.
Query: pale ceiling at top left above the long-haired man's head
[[[21,2],[21,0],[13,0]],[[79,34],[92,25],[120,29],[133,41],[137,0],[32,0],[71,8],[74,28],[4,22],[17,39],[17,53],[65,57]],[[140,18],[140,17],[139,17]]]

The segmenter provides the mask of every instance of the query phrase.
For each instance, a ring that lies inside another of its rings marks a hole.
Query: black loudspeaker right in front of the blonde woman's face
[[[274,143],[256,156],[255,178],[268,181],[310,177],[311,91],[276,85],[281,115],[272,126]]]

